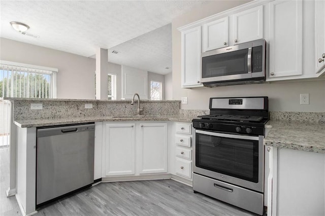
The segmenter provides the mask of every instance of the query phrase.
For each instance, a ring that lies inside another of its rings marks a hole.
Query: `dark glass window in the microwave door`
[[[202,58],[202,78],[247,74],[248,49]]]

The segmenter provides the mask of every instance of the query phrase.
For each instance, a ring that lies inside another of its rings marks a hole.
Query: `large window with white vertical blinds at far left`
[[[0,97],[55,98],[57,69],[0,62]]]

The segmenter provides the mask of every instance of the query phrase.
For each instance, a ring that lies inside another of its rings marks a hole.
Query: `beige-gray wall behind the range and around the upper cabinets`
[[[270,111],[324,112],[325,81],[277,82],[216,88],[181,88],[181,32],[178,27],[231,9],[249,1],[216,1],[185,13],[172,22],[173,37],[173,99],[188,97],[181,109],[209,109],[210,97],[269,96]],[[310,104],[300,105],[300,93],[309,93]]]

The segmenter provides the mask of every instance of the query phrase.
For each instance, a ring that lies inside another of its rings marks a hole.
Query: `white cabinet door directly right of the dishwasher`
[[[135,174],[135,124],[106,124],[104,176]]]

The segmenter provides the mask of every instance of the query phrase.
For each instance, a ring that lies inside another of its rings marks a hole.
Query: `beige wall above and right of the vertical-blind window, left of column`
[[[95,59],[5,38],[0,45],[1,60],[58,68],[57,98],[95,99]]]

